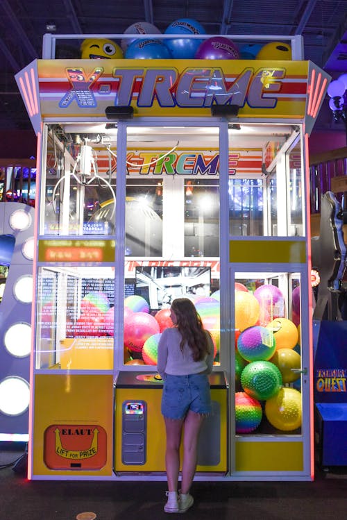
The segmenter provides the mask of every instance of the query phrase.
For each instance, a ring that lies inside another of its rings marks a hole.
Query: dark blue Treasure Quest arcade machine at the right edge
[[[345,198],[321,198],[319,237],[312,238],[312,264],[319,272],[314,309],[314,403],[316,453],[329,470],[347,466],[347,321]]]

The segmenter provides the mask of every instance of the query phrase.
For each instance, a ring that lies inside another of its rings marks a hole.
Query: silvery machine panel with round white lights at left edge
[[[33,228],[31,206],[0,202],[0,442],[17,447],[28,442]]]

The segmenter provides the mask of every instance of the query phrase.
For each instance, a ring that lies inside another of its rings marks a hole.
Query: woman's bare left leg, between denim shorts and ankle
[[[167,448],[165,464],[167,468],[167,485],[170,491],[177,491],[178,473],[180,472],[180,437],[182,435],[183,419],[168,419],[164,417],[167,432]]]

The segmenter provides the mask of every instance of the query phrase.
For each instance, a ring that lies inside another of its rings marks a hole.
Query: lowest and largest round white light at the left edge
[[[5,378],[0,383],[0,412],[20,415],[26,411],[30,401],[28,382],[16,376]]]

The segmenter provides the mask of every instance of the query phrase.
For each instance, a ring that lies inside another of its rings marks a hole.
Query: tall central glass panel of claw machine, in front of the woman
[[[127,146],[124,363],[155,366],[171,302],[186,297],[219,364],[218,130],[128,128]]]

